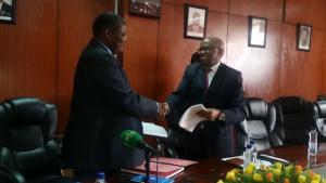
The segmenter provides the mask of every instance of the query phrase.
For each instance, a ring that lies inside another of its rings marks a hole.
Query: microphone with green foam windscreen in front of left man
[[[141,135],[134,130],[123,131],[120,138],[123,140],[124,145],[130,148],[142,148],[155,154],[154,148],[147,144],[141,138]]]

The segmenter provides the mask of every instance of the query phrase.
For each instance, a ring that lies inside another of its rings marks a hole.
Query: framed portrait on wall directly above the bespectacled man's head
[[[208,8],[195,4],[185,4],[184,37],[203,39],[206,32]]]

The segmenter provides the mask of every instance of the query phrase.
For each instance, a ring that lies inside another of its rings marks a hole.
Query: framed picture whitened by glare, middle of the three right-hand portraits
[[[248,45],[265,48],[267,18],[249,16],[248,18]]]

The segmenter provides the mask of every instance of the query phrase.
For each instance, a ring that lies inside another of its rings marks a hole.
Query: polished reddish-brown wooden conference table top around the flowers
[[[287,159],[290,162],[294,162],[296,165],[306,167],[306,153],[308,145],[298,145],[271,148],[259,152],[259,155],[271,155],[274,157]],[[324,164],[326,167],[326,143],[319,143],[316,165],[323,166]],[[220,179],[225,179],[225,174],[236,167],[237,166],[235,166],[234,164],[223,161],[217,158],[204,159],[199,161],[198,164],[186,167],[181,173],[174,177],[174,180],[175,183],[216,183]],[[109,180],[109,182],[110,181],[121,182]]]

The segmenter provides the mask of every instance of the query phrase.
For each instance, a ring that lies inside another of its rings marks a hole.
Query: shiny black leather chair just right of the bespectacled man
[[[249,140],[254,142],[258,151],[281,145],[280,139],[274,133],[276,125],[276,110],[273,104],[268,104],[260,97],[246,99],[246,119],[240,123],[244,133],[244,144]]]

